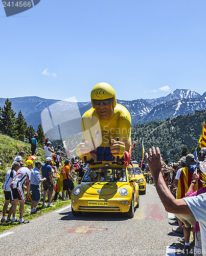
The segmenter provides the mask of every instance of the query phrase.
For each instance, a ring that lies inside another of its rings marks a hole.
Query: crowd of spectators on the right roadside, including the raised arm
[[[172,231],[179,233],[180,236],[184,236],[178,238],[178,241],[184,244],[184,252],[188,255],[204,256],[206,255],[204,232],[206,231],[206,208],[205,201],[203,201],[203,205],[201,206],[202,198],[197,199],[197,196],[202,195],[203,197],[206,195],[206,166],[204,165],[206,163],[206,147],[201,148],[198,152],[197,160],[195,160],[193,154],[188,154],[187,156],[181,157],[177,163],[171,162],[169,164],[167,161],[163,161],[163,159],[161,159],[160,152],[159,154],[157,153],[154,148],[150,148],[149,154],[146,155],[148,162],[145,168],[148,179],[147,182],[149,183],[151,181],[151,177],[154,178],[153,174],[155,174],[154,183],[157,193],[159,194],[166,210],[175,213],[176,216],[175,220],[178,223],[178,227],[173,228]],[[160,156],[159,159],[158,156]],[[160,173],[162,176],[160,176]],[[153,180],[151,182],[153,182]],[[168,188],[168,192],[166,187]],[[172,195],[172,197],[168,193]],[[183,202],[181,201],[182,199],[186,202],[182,204],[185,204],[185,206],[187,204],[189,207],[187,210],[184,209],[183,206],[181,208],[179,202]],[[170,207],[167,204],[169,204]],[[171,209],[172,206],[173,208]],[[204,215],[203,224],[200,217],[202,214],[201,212],[203,212]],[[192,243],[190,243],[192,240],[190,238],[191,233],[193,236]]]

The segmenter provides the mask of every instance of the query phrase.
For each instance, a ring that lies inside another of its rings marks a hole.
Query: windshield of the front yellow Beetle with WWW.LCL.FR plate
[[[90,168],[82,182],[88,181],[127,181],[125,169],[120,168]]]

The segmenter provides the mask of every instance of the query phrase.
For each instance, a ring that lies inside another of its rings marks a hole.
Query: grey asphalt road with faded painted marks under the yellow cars
[[[62,210],[62,209],[61,209]],[[176,227],[168,219],[155,187],[147,185],[133,219],[122,214],[84,212],[73,217],[71,207],[54,210],[0,237],[1,255],[182,255]],[[8,231],[5,231],[6,234]]]

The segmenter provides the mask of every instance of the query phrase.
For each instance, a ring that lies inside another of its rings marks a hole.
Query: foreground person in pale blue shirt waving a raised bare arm
[[[196,221],[199,222],[202,240],[202,255],[206,255],[206,193],[196,196],[175,199],[167,188],[161,173],[162,157],[159,148],[149,148],[149,153],[146,153],[146,160],[149,164],[156,191],[161,199],[166,211],[174,214],[194,215]],[[189,159],[188,159],[189,160]],[[187,162],[188,163],[188,162]],[[200,164],[200,170],[206,174],[205,163]],[[192,178],[191,183],[196,186],[196,180]],[[195,190],[195,189],[194,189]],[[188,250],[186,252],[189,252]]]

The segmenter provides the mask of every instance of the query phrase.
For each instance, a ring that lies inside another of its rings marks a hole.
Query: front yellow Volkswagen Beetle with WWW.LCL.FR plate
[[[72,193],[72,214],[82,211],[125,212],[133,218],[134,208],[139,207],[139,186],[136,177],[120,164],[90,165],[81,184]],[[80,180],[80,178],[77,178]]]

